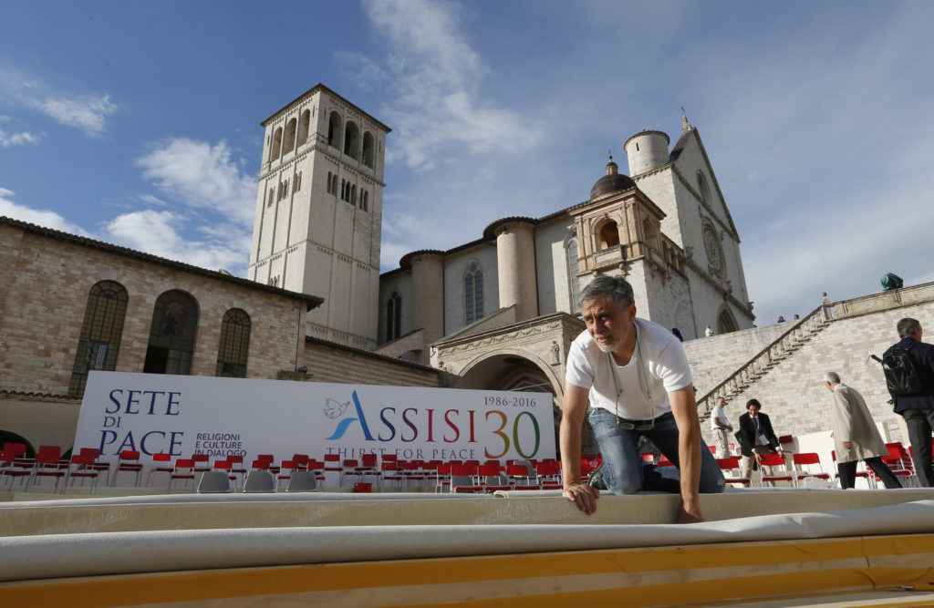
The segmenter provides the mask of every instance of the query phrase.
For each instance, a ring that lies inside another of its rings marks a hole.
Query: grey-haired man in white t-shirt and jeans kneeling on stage
[[[568,353],[560,425],[563,495],[587,514],[597,509],[600,492],[582,483],[580,474],[589,402],[606,487],[614,494],[680,492],[678,521],[702,521],[699,491],[722,492],[725,482],[701,439],[684,347],[665,328],[636,318],[632,288],[623,278],[595,278],[580,302],[587,330]],[[677,478],[642,460],[641,436],[672,461]]]

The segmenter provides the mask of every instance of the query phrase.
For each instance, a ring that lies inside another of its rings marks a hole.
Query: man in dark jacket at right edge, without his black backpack
[[[924,330],[913,318],[903,318],[897,326],[901,340],[885,351],[908,352],[921,379],[921,390],[911,395],[892,395],[895,413],[905,418],[912,444],[914,473],[925,488],[934,488],[934,459],[931,458],[931,430],[934,429],[934,346],[921,341]]]

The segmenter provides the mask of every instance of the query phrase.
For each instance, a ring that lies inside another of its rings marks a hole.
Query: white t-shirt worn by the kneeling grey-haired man
[[[688,386],[691,370],[687,365],[685,348],[672,332],[644,318],[635,319],[635,329],[637,347],[630,362],[622,366],[606,356],[590,332],[582,332],[571,343],[564,377],[576,387],[590,389],[590,405],[614,413],[618,385],[622,389],[619,416],[648,420],[672,411],[668,393]],[[616,384],[610,375],[611,362]],[[652,396],[651,404],[649,394]]]

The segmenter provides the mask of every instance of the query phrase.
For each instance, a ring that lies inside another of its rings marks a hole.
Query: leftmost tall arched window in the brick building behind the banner
[[[78,353],[68,383],[68,396],[84,394],[91,370],[112,372],[117,369],[117,352],[120,350],[128,300],[126,290],[115,281],[101,281],[91,288],[84,308]]]

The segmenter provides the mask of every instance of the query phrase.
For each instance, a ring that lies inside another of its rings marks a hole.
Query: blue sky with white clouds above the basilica
[[[701,133],[757,324],[934,280],[934,3],[6,3],[0,215],[243,276],[259,122],[322,82],[392,129],[383,270]],[[712,319],[713,321],[713,319]]]

